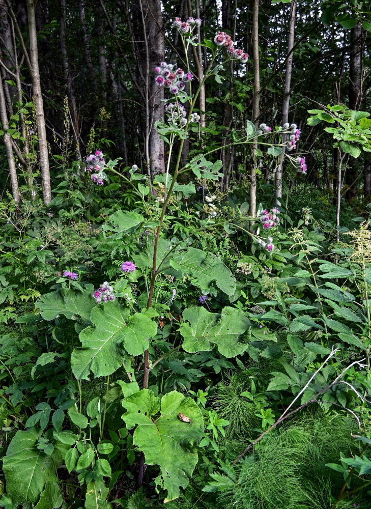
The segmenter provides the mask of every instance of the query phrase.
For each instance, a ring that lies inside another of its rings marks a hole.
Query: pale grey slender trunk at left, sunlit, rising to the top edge
[[[41,181],[43,188],[44,204],[49,205],[49,203],[51,202],[49,157],[48,157],[48,145],[46,140],[44,105],[40,85],[34,0],[27,0],[27,15],[28,15],[28,33],[30,36],[30,61],[32,72],[32,85],[37,110],[37,132],[39,138]]]

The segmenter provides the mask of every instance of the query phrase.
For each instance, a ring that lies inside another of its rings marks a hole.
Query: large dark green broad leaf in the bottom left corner
[[[36,504],[45,484],[57,480],[52,458],[36,447],[40,436],[39,428],[17,431],[3,458],[7,494],[16,504]]]

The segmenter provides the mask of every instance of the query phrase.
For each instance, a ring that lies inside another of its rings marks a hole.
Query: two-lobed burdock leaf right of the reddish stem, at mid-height
[[[183,350],[194,353],[218,347],[225,357],[236,357],[248,348],[243,334],[251,325],[245,313],[235,307],[224,307],[221,315],[210,313],[204,307],[189,307],[183,312],[181,334]]]

